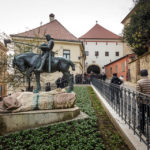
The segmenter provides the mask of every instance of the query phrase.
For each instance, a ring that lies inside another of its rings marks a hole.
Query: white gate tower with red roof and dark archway
[[[80,37],[86,53],[85,67],[87,73],[102,73],[104,65],[123,56],[121,37],[96,24],[85,35]],[[93,70],[93,69],[94,70]]]

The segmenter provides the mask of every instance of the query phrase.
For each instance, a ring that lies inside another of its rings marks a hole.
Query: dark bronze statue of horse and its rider
[[[20,72],[26,73],[29,79],[32,72],[34,72],[36,77],[36,89],[34,90],[35,93],[38,93],[41,90],[40,73],[53,73],[60,71],[63,73],[64,77],[69,83],[67,92],[70,93],[73,90],[73,80],[72,75],[69,72],[69,68],[71,66],[72,70],[75,70],[75,65],[72,61],[63,57],[54,57],[54,52],[52,52],[54,41],[49,34],[46,35],[46,39],[48,44],[44,43],[39,47],[43,51],[42,55],[35,54],[33,52],[19,54],[14,56],[13,66],[16,66]]]

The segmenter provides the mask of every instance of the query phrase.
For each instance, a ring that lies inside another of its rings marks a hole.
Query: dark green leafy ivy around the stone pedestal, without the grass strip
[[[105,150],[87,87],[75,87],[76,104],[89,119],[0,136],[2,150]]]

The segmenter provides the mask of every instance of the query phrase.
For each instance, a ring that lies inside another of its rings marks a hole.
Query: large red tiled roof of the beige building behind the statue
[[[50,34],[52,38],[58,39],[58,40],[73,40],[73,41],[79,41],[77,37],[75,37],[73,34],[71,34],[59,21],[56,19],[42,25],[40,27],[37,27],[35,29],[11,35],[11,36],[19,36],[19,37],[39,37],[44,38],[46,34]]]

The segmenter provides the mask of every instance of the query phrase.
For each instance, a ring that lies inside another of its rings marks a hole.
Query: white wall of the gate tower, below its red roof
[[[120,40],[85,40],[85,51],[89,52],[89,56],[86,56],[85,64],[90,66],[91,64],[97,64],[100,66],[101,72],[104,71],[104,65],[123,56],[123,42]],[[99,52],[99,56],[95,56],[95,51]],[[105,52],[109,52],[109,56],[105,56]],[[116,52],[119,52],[119,56],[116,56]]]

